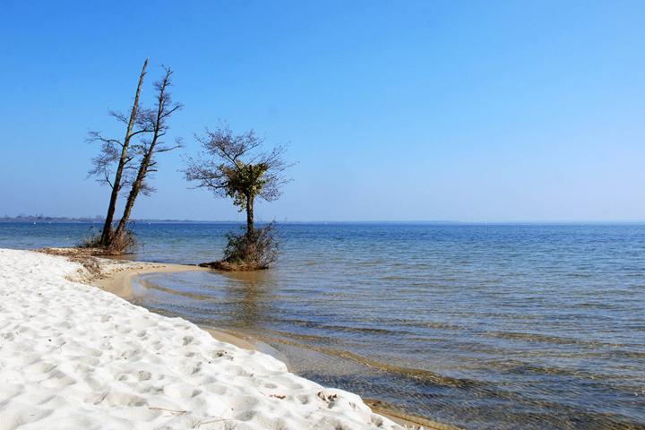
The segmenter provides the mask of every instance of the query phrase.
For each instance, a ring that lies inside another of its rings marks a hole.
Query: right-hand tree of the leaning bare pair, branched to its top
[[[169,67],[163,67],[163,69],[165,71],[163,79],[154,84],[158,94],[156,108],[142,111],[142,123],[146,130],[150,130],[152,137],[150,139],[143,139],[141,143],[133,145],[133,150],[140,159],[139,168],[136,176],[133,177],[130,193],[125,202],[123,216],[119,219],[118,226],[116,227],[115,237],[123,237],[125,235],[125,227],[130,220],[134,202],[139,196],[139,193],[148,194],[154,191],[148,184],[147,179],[149,179],[150,173],[157,171],[157,159],[155,156],[161,152],[168,152],[169,150],[175,150],[181,147],[181,141],[178,139],[173,145],[166,145],[160,140],[168,133],[168,119],[170,116],[182,108],[181,104],[172,101],[172,97],[168,92],[168,87],[172,85],[171,77],[173,72]]]

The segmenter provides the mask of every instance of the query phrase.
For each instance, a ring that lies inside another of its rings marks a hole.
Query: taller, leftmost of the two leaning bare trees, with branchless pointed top
[[[88,140],[90,142],[99,142],[100,150],[99,155],[92,159],[92,168],[90,169],[90,176],[97,176],[99,182],[107,184],[112,188],[112,193],[110,194],[109,205],[107,206],[107,215],[105,219],[105,224],[103,226],[103,231],[101,233],[99,245],[109,246],[111,241],[112,233],[112,221],[114,219],[114,213],[116,210],[116,200],[118,199],[119,192],[121,188],[127,184],[125,181],[124,174],[128,164],[132,161],[133,157],[128,156],[128,148],[130,146],[130,141],[136,134],[146,133],[149,130],[143,126],[137,131],[133,131],[134,125],[139,123],[140,125],[145,125],[139,116],[139,95],[141,94],[143,78],[146,74],[146,66],[148,65],[149,58],[146,58],[143,63],[142,73],[139,76],[139,84],[137,85],[136,93],[134,94],[133,107],[130,112],[129,118],[123,114],[116,112],[110,112],[111,116],[116,117],[117,120],[125,123],[125,138],[123,141],[117,139],[106,138],[101,135],[100,132],[90,132],[90,137]],[[114,179],[110,180],[112,175],[112,167],[116,163],[116,172],[114,173]]]

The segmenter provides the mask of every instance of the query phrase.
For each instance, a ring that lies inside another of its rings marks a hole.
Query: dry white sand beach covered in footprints
[[[0,430],[402,428],[356,395],[0,249]]]

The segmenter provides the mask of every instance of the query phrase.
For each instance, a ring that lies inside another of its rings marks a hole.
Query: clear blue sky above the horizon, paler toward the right
[[[297,163],[256,219],[645,219],[645,2],[2,0],[0,39],[0,216],[105,213],[85,138],[150,57],[185,148],[134,218],[244,219],[181,173],[227,121]]]

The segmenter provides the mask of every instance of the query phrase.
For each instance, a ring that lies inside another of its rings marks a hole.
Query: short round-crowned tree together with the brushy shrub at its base
[[[188,159],[185,178],[216,196],[232,198],[239,211],[246,211],[245,233],[228,236],[224,261],[236,262],[243,270],[266,268],[275,260],[275,241],[271,225],[255,228],[254,203],[257,198],[271,202],[280,197],[280,187],[287,182],[288,165],[282,159],[285,148],[263,152],[263,139],[253,130],[234,134],[226,124],[195,138],[204,153]]]

